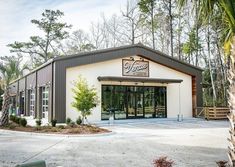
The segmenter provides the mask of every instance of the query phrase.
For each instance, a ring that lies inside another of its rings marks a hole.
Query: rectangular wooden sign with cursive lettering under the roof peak
[[[144,60],[122,59],[122,75],[148,77],[149,62]]]

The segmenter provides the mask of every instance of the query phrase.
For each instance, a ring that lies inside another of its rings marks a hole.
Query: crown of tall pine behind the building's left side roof
[[[31,20],[43,33],[43,36],[31,36],[29,42],[14,42],[9,44],[11,52],[27,53],[31,56],[35,66],[53,58],[57,51],[55,46],[68,37],[65,29],[71,26],[58,20],[64,15],[59,10],[45,10],[40,20]]]

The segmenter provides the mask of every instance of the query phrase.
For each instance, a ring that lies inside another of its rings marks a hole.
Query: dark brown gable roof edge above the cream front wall
[[[203,69],[193,66],[189,63],[183,62],[178,60],[174,57],[170,57],[169,55],[160,52],[158,50],[154,50],[150,47],[144,46],[143,44],[134,44],[134,45],[125,45],[120,47],[90,51],[90,52],[82,52],[74,55],[67,55],[61,57],[55,57],[48,62],[42,64],[41,66],[37,67],[36,69],[32,70],[25,76],[21,77],[24,78],[44,67],[53,63],[53,62],[67,62],[67,67],[73,67],[76,65],[84,65],[84,64],[92,64],[96,62],[102,62],[117,58],[123,58],[128,56],[141,56],[153,62],[159,63],[161,65],[167,66],[169,68],[175,69],[177,71],[189,74],[189,75],[196,75],[195,73],[201,73]],[[82,60],[82,61],[81,61]],[[70,63],[69,63],[70,62]],[[21,78],[17,79],[20,80]],[[11,82],[14,83],[17,80]]]

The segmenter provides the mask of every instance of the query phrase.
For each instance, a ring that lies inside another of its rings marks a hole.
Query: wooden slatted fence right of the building
[[[207,120],[227,119],[228,107],[197,107],[196,117],[204,117]]]

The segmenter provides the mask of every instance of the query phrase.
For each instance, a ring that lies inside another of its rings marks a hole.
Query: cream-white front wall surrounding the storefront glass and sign
[[[134,59],[140,59],[140,56],[132,56]],[[126,57],[128,59],[129,57]],[[147,59],[145,59],[147,60]],[[148,61],[148,60],[147,60]],[[117,76],[122,77],[122,58],[114,59],[99,63],[87,64],[66,69],[66,118],[70,117],[76,120],[79,116],[75,108],[71,106],[73,102],[72,82],[81,75],[86,78],[90,86],[97,89],[99,99],[101,100],[102,83],[110,85],[119,85],[119,82],[104,81],[99,82],[98,76]],[[177,118],[181,113],[184,118],[192,117],[192,77],[185,73],[168,68],[164,65],[149,61],[149,78],[177,79],[183,80],[180,84],[161,84],[161,83],[144,83],[145,86],[166,86],[167,87],[167,117]],[[143,83],[122,83],[125,85],[143,85]],[[180,98],[180,99],[179,99]],[[179,100],[180,103],[179,104]],[[180,111],[179,111],[180,110]],[[90,122],[101,120],[101,104],[93,109],[92,115],[88,117]]]

